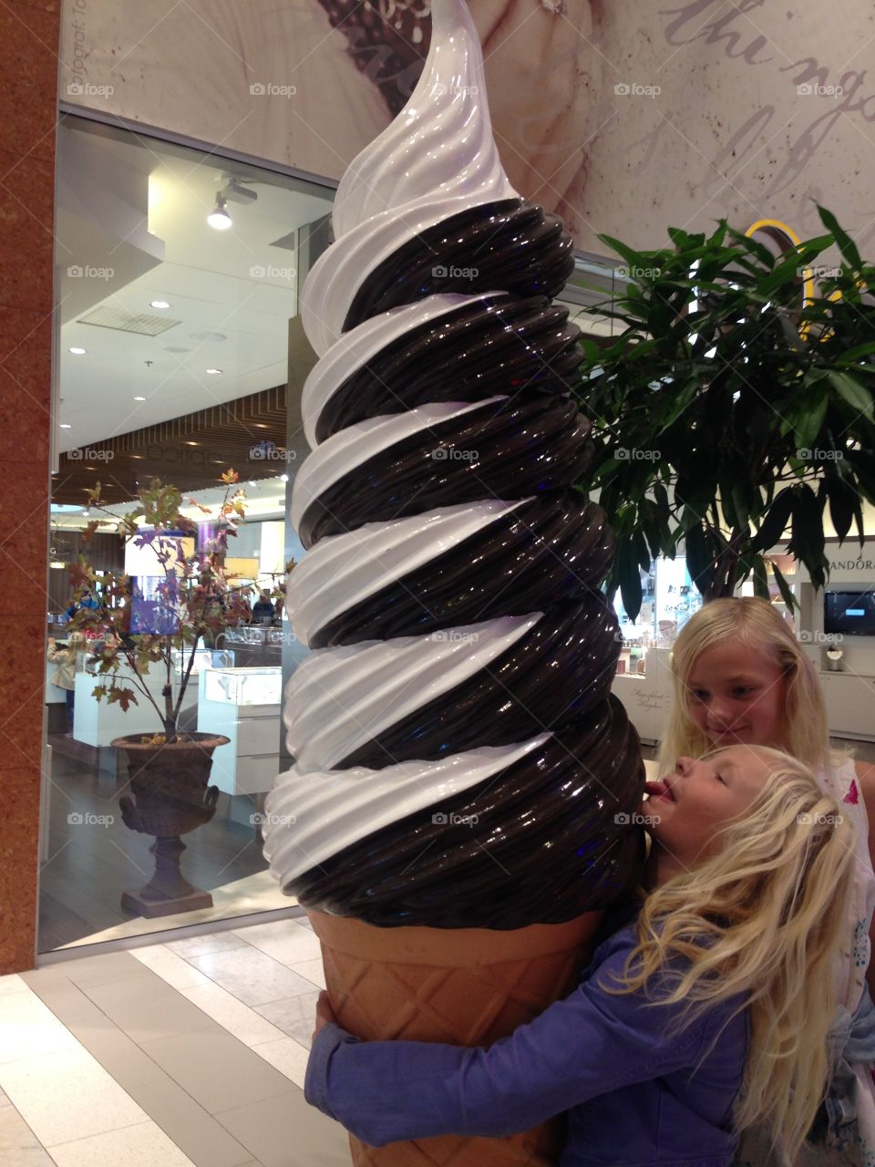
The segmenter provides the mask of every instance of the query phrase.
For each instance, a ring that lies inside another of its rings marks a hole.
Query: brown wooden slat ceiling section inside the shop
[[[285,445],[286,386],[276,385],[62,454],[51,501],[84,504],[98,481],[108,503],[135,497],[138,481],[153,477],[201,490],[217,485],[228,467],[242,480],[272,478],[288,469]]]

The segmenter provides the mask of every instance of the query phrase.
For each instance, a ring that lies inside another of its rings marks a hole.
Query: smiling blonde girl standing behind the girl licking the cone
[[[840,1007],[831,1037],[836,1065],[811,1131],[818,1167],[875,1162],[875,1006],[870,962],[875,907],[875,767],[831,748],[826,701],[813,662],[765,600],[706,603],[673,647],[674,700],[659,748],[671,759],[732,745],[771,746],[800,759],[856,826],[854,885],[840,946]],[[868,986],[867,986],[868,978]],[[742,1140],[740,1163],[779,1160],[763,1132]]]

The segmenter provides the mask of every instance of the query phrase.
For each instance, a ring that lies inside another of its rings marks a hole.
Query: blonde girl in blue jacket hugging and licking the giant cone
[[[323,993],[307,1100],[371,1146],[568,1111],[560,1167],[729,1167],[757,1123],[792,1162],[828,1077],[854,825],[765,748],[680,757],[649,794],[644,890],[569,997],[466,1049],[360,1041]]]

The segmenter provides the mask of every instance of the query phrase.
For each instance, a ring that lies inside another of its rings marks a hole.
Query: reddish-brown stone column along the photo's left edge
[[[0,6],[0,973],[36,951],[60,23]]]

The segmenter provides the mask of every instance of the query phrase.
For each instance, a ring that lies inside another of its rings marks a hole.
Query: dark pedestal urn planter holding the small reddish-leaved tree
[[[178,734],[169,745],[163,738],[140,733],[112,742],[127,754],[131,795],[119,798],[123,822],[132,831],[155,836],[149,847],[155,857],[152,879],[138,892],[124,892],[121,906],[148,918],[212,907],[210,893],[182,874],[181,836],[216,813],[219,791],[209,785],[212,754],[230,741],[211,733]]]

